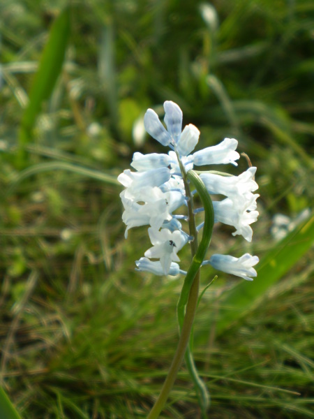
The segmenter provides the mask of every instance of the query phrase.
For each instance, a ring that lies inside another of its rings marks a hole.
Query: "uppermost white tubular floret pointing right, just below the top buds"
[[[207,147],[193,154],[195,166],[204,166],[205,164],[227,164],[232,163],[238,166],[234,160],[240,158],[240,154],[235,151],[238,142],[234,138],[225,138],[220,144]]]

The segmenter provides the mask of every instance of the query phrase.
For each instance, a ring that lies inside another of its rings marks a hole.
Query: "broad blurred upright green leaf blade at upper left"
[[[52,24],[50,36],[43,50],[38,71],[29,93],[29,104],[24,111],[20,126],[20,147],[31,140],[31,131],[43,101],[52,94],[61,73],[66,45],[70,35],[70,8],[65,8]]]

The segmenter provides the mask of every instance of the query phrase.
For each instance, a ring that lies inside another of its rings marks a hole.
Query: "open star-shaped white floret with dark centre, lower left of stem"
[[[149,238],[151,244],[154,246],[145,251],[144,256],[147,258],[159,258],[163,273],[166,275],[172,261],[179,262],[177,252],[184,247],[188,241],[188,235],[175,230],[173,233],[167,228],[162,228],[160,231],[149,228]]]

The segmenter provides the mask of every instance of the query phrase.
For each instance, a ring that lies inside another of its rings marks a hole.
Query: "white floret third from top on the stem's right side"
[[[214,216],[215,222],[227,224],[228,226],[234,226],[237,231],[232,235],[242,235],[248,242],[252,241],[253,230],[249,226],[257,220],[258,212],[247,210],[256,207],[256,199],[259,195],[253,195],[251,200],[241,200],[234,203],[230,198],[226,198],[222,201],[214,201]]]

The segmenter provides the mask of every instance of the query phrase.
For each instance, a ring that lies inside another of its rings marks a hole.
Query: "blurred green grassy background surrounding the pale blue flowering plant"
[[[0,376],[20,414],[154,404],[182,277],[135,272],[149,237],[124,239],[117,175],[165,152],[143,117],[171,100],[197,149],[237,138],[260,185],[253,242],[215,226],[209,250],[261,260],[253,283],[218,273],[197,309],[209,416],[313,418],[314,3],[2,0],[0,15]],[[182,367],[160,417],[199,414]]]

